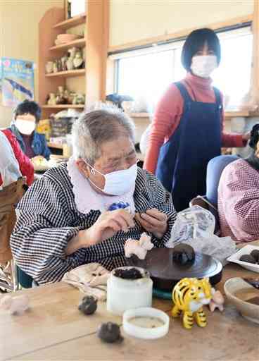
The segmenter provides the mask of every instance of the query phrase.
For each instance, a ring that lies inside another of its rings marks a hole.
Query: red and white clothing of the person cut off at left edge
[[[27,178],[27,185],[34,180],[34,168],[30,159],[22,152],[11,130],[0,130],[0,188],[17,181],[19,176]]]

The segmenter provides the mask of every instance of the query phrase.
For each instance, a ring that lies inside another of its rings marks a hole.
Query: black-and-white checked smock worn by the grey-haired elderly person
[[[138,169],[134,202],[136,212],[157,208],[168,215],[168,231],[163,240],[152,238],[156,247],[163,247],[176,218],[171,195],[155,176]],[[50,169],[34,183],[18,204],[16,213],[11,236],[13,257],[39,283],[60,281],[65,272],[89,262],[99,262],[109,270],[120,267],[125,264],[125,241],[139,239],[144,231],[136,225],[127,233],[120,231],[98,245],[65,255],[68,241],[78,231],[92,226],[101,214],[94,210],[88,214],[77,211],[66,164]]]

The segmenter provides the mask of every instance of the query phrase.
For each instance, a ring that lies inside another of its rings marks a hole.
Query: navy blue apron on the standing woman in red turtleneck
[[[206,194],[206,169],[220,155],[222,100],[216,88],[215,103],[191,99],[182,82],[175,82],[184,99],[179,126],[161,148],[156,176],[172,193],[177,212],[189,207],[197,195]],[[174,99],[172,99],[172,102]]]

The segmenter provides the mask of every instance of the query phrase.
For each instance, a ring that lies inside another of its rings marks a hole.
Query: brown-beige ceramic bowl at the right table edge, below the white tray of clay
[[[251,286],[240,277],[229,279],[224,285],[225,294],[229,302],[251,322],[259,324],[259,304],[256,305],[255,300],[259,300],[259,290]],[[251,302],[253,300],[253,302]],[[250,302],[248,302],[250,301]]]

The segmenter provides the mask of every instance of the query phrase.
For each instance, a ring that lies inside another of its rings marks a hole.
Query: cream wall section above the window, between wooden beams
[[[253,13],[253,0],[110,0],[110,47]]]

